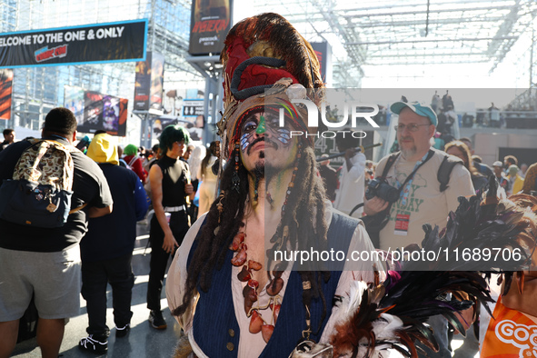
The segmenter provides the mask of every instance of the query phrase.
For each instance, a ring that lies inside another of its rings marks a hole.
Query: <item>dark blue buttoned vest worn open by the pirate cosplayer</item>
[[[357,224],[358,221],[349,216],[334,213],[327,234],[329,250],[330,248],[333,248],[334,252],[341,250],[346,255]],[[190,264],[196,246],[197,241],[194,241],[187,264]],[[234,252],[228,250],[223,267],[220,270],[214,269],[209,292],[204,293],[198,288],[200,297],[194,314],[194,340],[202,351],[211,358],[236,357],[239,347],[241,333],[234,313],[231,290],[232,264],[230,261],[233,255]],[[341,264],[343,267],[344,262]],[[323,283],[326,317],[318,333],[310,336],[315,342],[321,338],[324,325],[332,313],[333,296],[341,273],[341,271],[333,271],[330,280]],[[289,282],[285,288],[282,307],[273,335],[260,357],[287,357],[293,352],[294,347],[302,338],[303,330],[306,329],[306,312],[302,293],[300,274],[293,271],[289,275]],[[315,331],[321,323],[323,313],[323,302],[320,297],[313,298],[310,311],[312,313],[312,330]]]

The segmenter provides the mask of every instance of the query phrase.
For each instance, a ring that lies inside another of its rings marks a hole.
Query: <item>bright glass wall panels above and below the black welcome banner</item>
[[[147,51],[154,50],[165,57],[164,88],[188,88],[192,83],[204,80],[184,59],[188,55],[188,31],[182,30],[190,24],[191,5],[188,0],[114,3],[96,0],[91,2],[95,12],[87,12],[84,10],[90,6],[89,0],[56,0],[52,5],[36,3],[33,0],[5,0],[0,1],[0,32],[150,18]],[[62,10],[61,16],[55,13],[55,7]],[[54,88],[55,105],[63,104],[64,85],[105,91],[106,94],[126,98],[130,98],[134,93],[134,62],[46,68],[46,71],[55,73],[52,75],[54,83],[47,83],[49,88]],[[16,69],[15,81],[20,85],[15,87],[15,98],[24,99],[25,104],[30,101],[43,104],[51,102],[47,99],[51,94],[45,95],[45,88],[40,88],[40,84],[44,82],[43,71],[42,67]],[[21,82],[24,82],[24,85]]]

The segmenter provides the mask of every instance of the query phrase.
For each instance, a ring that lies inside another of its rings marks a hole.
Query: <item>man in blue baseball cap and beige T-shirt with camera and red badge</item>
[[[423,224],[445,227],[450,211],[459,205],[459,196],[474,194],[470,173],[464,165],[454,165],[447,187],[442,188],[438,179],[439,168],[444,158],[451,155],[432,148],[438,119],[427,104],[418,102],[396,102],[390,107],[399,115],[396,125],[400,152],[384,157],[377,165],[376,178],[400,190],[399,200],[389,204],[379,196],[365,202],[364,213],[388,217],[379,237],[383,250],[396,250],[409,244],[421,244]],[[384,169],[387,168],[387,171]],[[367,220],[365,220],[367,222]],[[367,226],[367,225],[366,225]],[[368,228],[369,229],[369,228]],[[373,233],[369,233],[370,236]],[[374,241],[373,241],[374,242]],[[440,351],[427,350],[430,357],[451,357],[447,342],[447,323],[439,316],[429,322],[434,327],[434,335]]]

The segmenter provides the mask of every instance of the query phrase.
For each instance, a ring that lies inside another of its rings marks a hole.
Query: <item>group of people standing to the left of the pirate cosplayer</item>
[[[55,141],[61,148],[67,148],[76,143],[76,125],[75,116],[69,110],[55,108],[45,118],[42,140]],[[11,180],[14,172],[24,170],[19,157],[42,140],[25,138],[15,143],[15,131],[5,130],[4,134],[0,166],[2,178]],[[114,144],[109,134],[98,131],[93,139],[85,136],[80,140],[77,149],[73,146],[70,151],[73,173],[66,174],[72,177],[71,203],[75,210],[60,227],[28,224],[18,231],[20,223],[11,223],[0,215],[3,233],[0,250],[5,267],[0,277],[3,284],[0,301],[5,309],[0,316],[0,356],[8,356],[15,346],[20,313],[35,305],[39,313],[37,343],[44,357],[56,357],[65,319],[79,313],[80,293],[86,301],[88,335],[81,339],[79,346],[89,352],[105,353],[110,334],[105,318],[108,283],[112,287],[115,336],[126,336],[133,315],[131,261],[136,222],[146,218],[150,208],[148,321],[155,329],[166,328],[160,306],[164,274],[170,254],[182,243],[197,217],[194,193],[203,179],[198,174],[191,182],[188,162],[199,168],[204,146],[189,144],[188,133],[180,126],[166,127],[159,139],[159,144],[151,150],[134,144],[123,149]],[[47,152],[45,157],[49,155],[55,154]],[[54,164],[63,166],[57,159]],[[36,165],[43,171],[38,183],[45,183],[47,165],[43,160]],[[211,167],[206,169],[210,171]],[[34,191],[41,195],[46,190],[38,184]],[[54,192],[52,189],[50,195],[54,196]],[[55,199],[50,200],[53,203]],[[204,200],[212,202],[214,197],[207,193]],[[5,259],[5,255],[11,258]],[[14,264],[17,260],[28,262],[25,270],[18,269]],[[65,260],[68,264],[65,267],[55,264]],[[39,274],[44,271],[50,280],[44,281]]]

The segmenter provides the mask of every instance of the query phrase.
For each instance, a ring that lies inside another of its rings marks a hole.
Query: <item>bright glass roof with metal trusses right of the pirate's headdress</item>
[[[246,15],[275,9],[309,40],[333,45],[335,84],[386,65],[479,64],[490,74],[523,35],[532,38],[537,2],[275,0]]]

